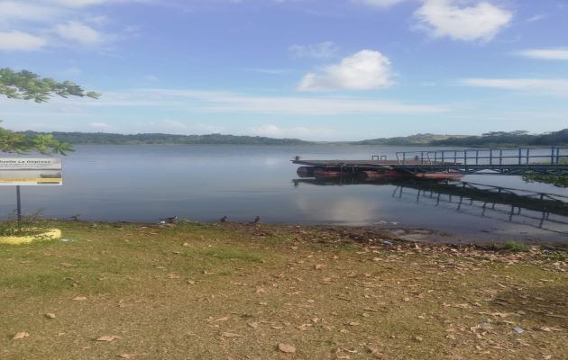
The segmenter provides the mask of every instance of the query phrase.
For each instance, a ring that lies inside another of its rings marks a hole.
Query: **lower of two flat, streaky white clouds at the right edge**
[[[568,79],[538,78],[466,78],[463,85],[568,96]]]

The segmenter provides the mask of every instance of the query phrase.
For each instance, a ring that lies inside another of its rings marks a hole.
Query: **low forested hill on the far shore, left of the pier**
[[[37,132],[27,131],[28,134]],[[273,139],[259,136],[222,134],[171,135],[171,134],[112,134],[105,132],[51,132],[55,139],[70,144],[204,144],[204,145],[306,145],[300,139]]]

